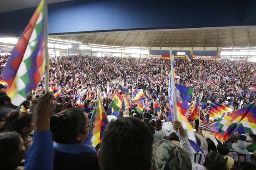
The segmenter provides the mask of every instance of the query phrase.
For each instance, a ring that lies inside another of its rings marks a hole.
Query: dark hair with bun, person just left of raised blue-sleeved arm
[[[7,131],[22,132],[24,127],[29,127],[32,121],[32,113],[21,113],[19,111],[11,111],[4,117],[4,128]]]

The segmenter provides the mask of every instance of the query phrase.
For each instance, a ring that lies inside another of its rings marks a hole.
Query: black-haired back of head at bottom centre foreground
[[[121,117],[111,121],[101,142],[101,170],[148,170],[153,139],[148,126],[137,118]]]

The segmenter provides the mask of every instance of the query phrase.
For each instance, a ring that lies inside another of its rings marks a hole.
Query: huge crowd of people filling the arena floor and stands
[[[1,57],[4,67],[8,56]],[[158,68],[158,69],[156,69]],[[191,101],[202,101],[239,109],[255,100],[256,63],[246,61],[177,59],[178,84],[193,88]],[[84,94],[84,107],[76,103],[83,89],[105,92],[105,111],[120,85],[131,91],[143,89],[144,102],[168,104],[170,60],[153,58],[79,57],[51,59],[50,86],[44,83],[22,103],[27,113],[14,106],[0,85],[1,169],[101,169],[101,170],[253,170],[256,168],[256,135],[233,134],[219,143],[212,132],[193,121],[196,143],[192,149],[178,121],[156,119],[153,110],[135,109],[108,115],[102,141],[95,148],[84,144],[92,123],[97,95]],[[136,105],[135,102],[132,102]],[[179,132],[177,134],[177,132]]]

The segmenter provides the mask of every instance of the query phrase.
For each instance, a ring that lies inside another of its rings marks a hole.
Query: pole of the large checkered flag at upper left
[[[49,56],[48,56],[48,10],[47,2],[44,1],[44,54],[45,54],[45,93],[49,91]]]

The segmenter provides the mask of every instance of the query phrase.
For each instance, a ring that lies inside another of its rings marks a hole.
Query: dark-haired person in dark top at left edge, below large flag
[[[11,99],[7,96],[5,92],[0,93],[0,122],[7,113],[13,111],[11,108]]]

